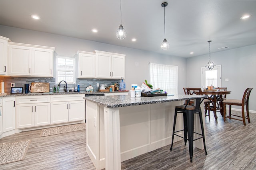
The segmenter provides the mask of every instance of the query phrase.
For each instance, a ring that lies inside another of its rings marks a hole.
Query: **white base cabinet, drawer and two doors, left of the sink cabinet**
[[[16,98],[16,127],[50,125],[50,96],[23,96]]]

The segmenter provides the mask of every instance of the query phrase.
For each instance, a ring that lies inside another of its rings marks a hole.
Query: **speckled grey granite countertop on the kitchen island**
[[[174,96],[157,96],[157,97],[135,97],[131,98],[130,95],[121,96],[90,96],[83,97],[83,99],[94,102],[104,107],[125,107],[125,106],[137,106],[144,104],[156,104],[165,102],[174,102],[188,100],[189,98],[200,98],[207,96],[199,95],[186,95],[186,94],[175,94]]]

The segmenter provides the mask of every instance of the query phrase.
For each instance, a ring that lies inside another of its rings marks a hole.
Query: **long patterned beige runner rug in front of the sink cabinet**
[[[81,131],[81,130],[85,130],[85,123],[42,129],[40,137],[57,135],[60,133],[67,133],[67,132],[73,132],[73,131]]]

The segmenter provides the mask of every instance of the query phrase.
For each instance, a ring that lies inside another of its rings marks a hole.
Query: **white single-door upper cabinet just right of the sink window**
[[[77,51],[78,78],[96,78],[95,53]]]

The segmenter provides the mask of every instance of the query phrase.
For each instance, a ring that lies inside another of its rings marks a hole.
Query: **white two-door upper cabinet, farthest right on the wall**
[[[96,78],[124,78],[125,56],[123,54],[96,52]]]

